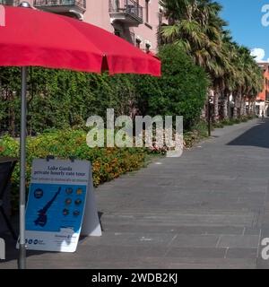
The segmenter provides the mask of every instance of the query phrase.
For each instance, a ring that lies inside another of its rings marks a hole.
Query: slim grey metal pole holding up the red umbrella
[[[20,175],[20,254],[19,269],[26,268],[25,246],[25,175],[26,175],[26,84],[27,67],[22,67],[22,99],[21,99],[21,175]]]

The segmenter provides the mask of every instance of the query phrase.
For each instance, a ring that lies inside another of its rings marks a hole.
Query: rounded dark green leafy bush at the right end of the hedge
[[[195,65],[177,45],[160,49],[161,78],[137,78],[136,88],[147,100],[145,111],[152,116],[183,116],[185,130],[191,129],[201,115],[208,79],[204,69]]]

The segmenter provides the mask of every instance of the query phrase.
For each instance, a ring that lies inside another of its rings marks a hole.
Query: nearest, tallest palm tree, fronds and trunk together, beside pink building
[[[203,66],[212,79],[209,93],[214,97],[213,119],[219,117],[220,79],[229,65],[222,48],[221,5],[211,0],[162,0],[169,26],[163,27],[161,37],[184,48],[195,64]]]

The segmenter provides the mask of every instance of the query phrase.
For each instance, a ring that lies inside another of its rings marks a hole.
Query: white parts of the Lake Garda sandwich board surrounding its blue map
[[[36,159],[32,163],[30,184],[82,186],[86,188],[86,195],[82,224],[78,232],[74,232],[71,228],[60,228],[58,231],[25,230],[27,249],[75,252],[80,235],[101,236],[90,161]]]

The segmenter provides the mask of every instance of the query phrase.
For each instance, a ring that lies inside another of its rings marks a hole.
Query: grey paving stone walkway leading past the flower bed
[[[96,190],[101,238],[74,254],[28,252],[30,268],[268,268],[269,121],[217,129],[178,159]],[[0,268],[16,268],[8,241]]]

